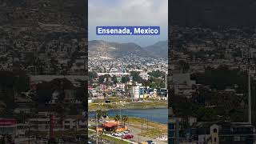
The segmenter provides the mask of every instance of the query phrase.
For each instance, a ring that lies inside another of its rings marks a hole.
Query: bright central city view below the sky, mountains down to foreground
[[[135,43],[89,42],[90,131],[137,143],[167,143],[167,113],[153,112],[166,111],[168,99],[167,42],[159,44],[164,51],[158,55]]]

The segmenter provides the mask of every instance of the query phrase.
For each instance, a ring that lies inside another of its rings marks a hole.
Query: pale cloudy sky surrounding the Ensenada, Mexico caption
[[[89,0],[88,38],[150,46],[166,41],[168,0]],[[160,26],[160,35],[96,35],[96,26]]]

